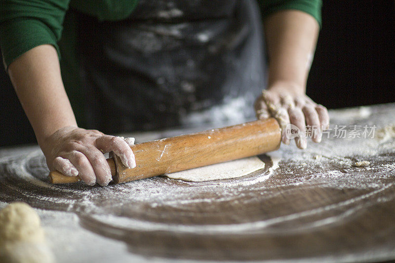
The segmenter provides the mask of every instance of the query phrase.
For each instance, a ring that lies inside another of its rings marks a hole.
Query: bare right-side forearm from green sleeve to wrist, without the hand
[[[302,11],[284,10],[270,15],[264,26],[269,88],[287,86],[305,93],[319,31],[316,19]]]

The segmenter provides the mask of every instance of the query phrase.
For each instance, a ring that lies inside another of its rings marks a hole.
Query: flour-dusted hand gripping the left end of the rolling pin
[[[122,163],[136,167],[130,145],[134,138],[105,135],[97,130],[85,130],[74,126],[59,129],[49,136],[41,147],[49,170],[58,170],[67,176],[79,176],[87,185],[96,182],[107,186],[112,180],[110,166],[104,152],[113,151]]]

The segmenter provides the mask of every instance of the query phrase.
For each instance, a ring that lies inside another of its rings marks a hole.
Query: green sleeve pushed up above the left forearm
[[[26,51],[57,41],[70,0],[0,0],[0,47],[6,68]]]

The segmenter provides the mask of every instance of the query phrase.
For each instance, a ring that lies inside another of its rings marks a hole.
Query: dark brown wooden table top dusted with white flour
[[[265,169],[211,182],[53,186],[38,147],[1,149],[0,207],[37,208],[59,262],[395,259],[395,104],[330,116],[320,144],[283,145],[259,156]],[[362,160],[370,165],[354,166]]]

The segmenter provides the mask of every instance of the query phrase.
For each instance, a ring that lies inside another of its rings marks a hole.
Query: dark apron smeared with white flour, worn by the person
[[[141,0],[123,21],[83,21],[90,128],[106,133],[243,122],[265,85],[252,0]]]

